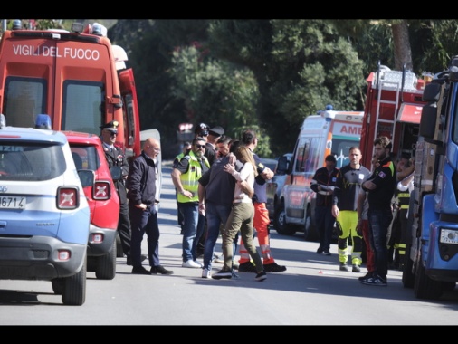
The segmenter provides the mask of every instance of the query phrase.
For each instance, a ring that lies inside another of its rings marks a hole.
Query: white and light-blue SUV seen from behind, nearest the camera
[[[65,135],[0,115],[0,280],[51,281],[64,304],[82,305],[89,226]]]

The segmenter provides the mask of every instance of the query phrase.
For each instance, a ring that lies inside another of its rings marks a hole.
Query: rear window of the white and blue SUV
[[[0,179],[43,181],[67,168],[62,147],[47,143],[0,142]]]

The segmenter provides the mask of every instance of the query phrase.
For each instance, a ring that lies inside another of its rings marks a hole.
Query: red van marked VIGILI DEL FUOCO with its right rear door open
[[[8,125],[33,127],[39,114],[52,129],[100,135],[119,122],[117,145],[140,153],[137,91],[127,54],[101,24],[72,31],[7,30],[0,41],[0,110]]]

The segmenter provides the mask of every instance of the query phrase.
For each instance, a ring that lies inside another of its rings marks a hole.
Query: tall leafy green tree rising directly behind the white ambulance
[[[278,156],[292,150],[303,119],[326,104],[335,110],[358,110],[365,82],[358,53],[329,21],[270,23],[271,54],[263,63],[266,77],[258,81],[268,94],[268,100],[263,99],[262,125]]]

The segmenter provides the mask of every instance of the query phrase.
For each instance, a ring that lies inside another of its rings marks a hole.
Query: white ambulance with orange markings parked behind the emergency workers
[[[305,240],[317,240],[314,223],[315,192],[310,188],[315,171],[324,167],[326,156],[337,159],[337,167],[348,165],[348,150],[359,146],[364,112],[334,111],[328,105],[318,115],[310,115],[301,127],[281,199],[273,216],[279,234],[303,232]],[[286,162],[279,161],[279,166]]]

